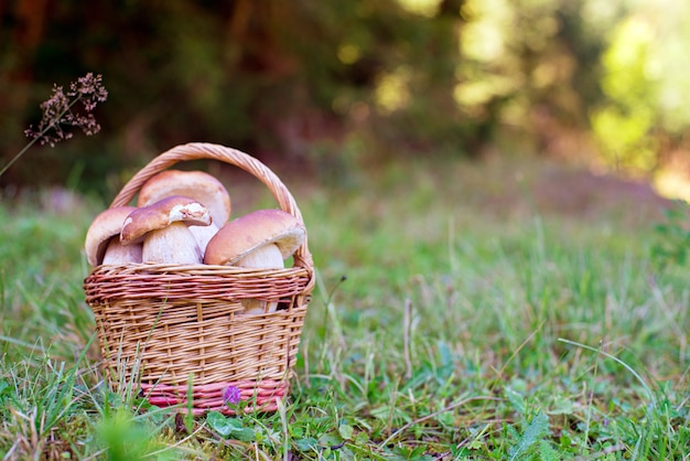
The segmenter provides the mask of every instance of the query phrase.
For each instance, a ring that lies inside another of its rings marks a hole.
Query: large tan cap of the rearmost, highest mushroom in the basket
[[[141,186],[137,206],[149,206],[171,195],[197,200],[218,227],[230,217],[230,195],[220,181],[203,171],[166,170],[155,174]]]

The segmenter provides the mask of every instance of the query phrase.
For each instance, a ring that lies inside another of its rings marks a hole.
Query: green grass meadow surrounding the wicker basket
[[[106,392],[80,253],[104,205],[2,202],[0,455],[688,459],[688,268],[654,262],[644,204],[545,206],[545,168],[287,179],[317,286],[289,401],[237,418]]]

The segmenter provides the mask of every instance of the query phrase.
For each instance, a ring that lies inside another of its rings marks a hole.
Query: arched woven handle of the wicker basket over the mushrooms
[[[134,174],[127,184],[125,184],[122,190],[112,200],[110,207],[123,206],[130,203],[141,186],[150,178],[169,167],[172,167],[180,161],[200,159],[219,160],[252,174],[271,191],[282,211],[290,213],[304,224],[304,219],[302,218],[302,214],[300,213],[300,208],[298,207],[294,197],[282,181],[280,181],[276,173],[273,173],[268,167],[254,157],[250,157],[237,149],[206,142],[190,142],[176,146],[155,157],[137,174]],[[303,267],[308,269],[310,274],[313,272],[314,262],[306,246],[306,238],[304,238],[304,243],[295,251],[293,259],[294,266]]]

